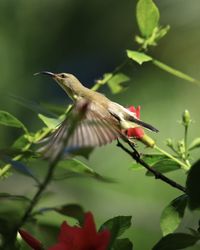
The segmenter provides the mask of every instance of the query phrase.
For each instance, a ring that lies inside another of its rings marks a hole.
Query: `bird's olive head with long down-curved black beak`
[[[34,75],[39,75],[39,74],[48,75],[52,77],[72,99],[75,98],[77,90],[79,89],[80,86],[82,86],[80,81],[74,75],[69,73],[56,74],[49,71],[42,71]]]

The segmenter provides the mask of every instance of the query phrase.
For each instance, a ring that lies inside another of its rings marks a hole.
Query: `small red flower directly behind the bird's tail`
[[[136,117],[140,119],[140,106],[135,108],[134,106],[130,106],[128,108],[131,112],[135,113]],[[136,139],[143,138],[144,136],[144,130],[141,127],[134,127],[134,128],[129,128],[126,131],[126,134],[128,137],[134,137]]]

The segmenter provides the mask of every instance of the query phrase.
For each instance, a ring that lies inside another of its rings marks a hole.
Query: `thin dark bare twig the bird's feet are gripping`
[[[140,157],[140,154],[137,152],[137,150],[133,147],[131,142],[128,142],[128,144],[131,146],[133,149],[133,152],[127,149],[119,140],[117,143],[117,146],[120,147],[124,152],[129,154],[137,163],[141,164],[143,167],[145,167],[149,172],[151,172],[156,179],[160,179],[167,183],[168,185],[181,190],[182,192],[186,193],[186,188],[178,184],[177,182],[173,181],[172,179],[166,177],[165,175],[161,174],[159,171],[156,169],[152,168],[149,166],[145,161],[143,161]]]

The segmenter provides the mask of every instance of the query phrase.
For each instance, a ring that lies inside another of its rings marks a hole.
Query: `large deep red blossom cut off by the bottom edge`
[[[48,250],[106,250],[109,244],[110,232],[96,231],[93,216],[85,214],[83,227],[71,227],[63,222],[58,236],[58,243]]]

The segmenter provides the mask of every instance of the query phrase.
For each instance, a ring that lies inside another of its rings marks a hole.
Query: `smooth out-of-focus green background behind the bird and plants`
[[[155,2],[161,13],[161,24],[169,24],[171,29],[151,51],[152,55],[200,79],[199,0]],[[135,6],[134,0],[1,0],[1,109],[17,116],[32,131],[41,128],[37,115],[16,104],[11,96],[65,107],[69,99],[63,91],[50,79],[33,77],[33,73],[41,70],[70,72],[91,86],[95,79],[124,60],[126,49],[136,48]],[[198,86],[149,63],[142,67],[132,63],[128,71],[131,77],[128,90],[115,96],[106,87],[101,91],[125,106],[141,105],[143,120],[160,130],[152,136],[161,147],[165,148],[164,141],[168,137],[182,137],[179,121],[184,109],[191,112],[195,121],[191,125],[190,139],[199,136]],[[9,146],[19,134],[17,129],[1,126],[0,146]],[[193,160],[197,156],[198,152]],[[162,209],[180,193],[159,180],[146,177],[143,170],[133,171],[131,159],[115,143],[96,149],[87,163],[96,171],[113,177],[117,183],[81,178],[52,183],[49,191],[55,195],[45,199],[43,205],[80,203],[86,211],[94,213],[98,225],[113,216],[132,215],[133,225],[127,235],[135,249],[151,249],[161,237]],[[184,183],[181,171],[169,176]],[[30,179],[13,174],[0,182],[0,189],[30,195],[34,185]],[[187,212],[180,230],[196,228],[196,216],[198,214]]]

